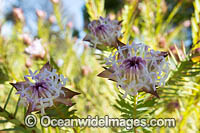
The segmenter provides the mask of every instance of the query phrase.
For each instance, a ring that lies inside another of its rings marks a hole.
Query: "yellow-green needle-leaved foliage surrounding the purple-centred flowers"
[[[86,0],[86,9],[91,21],[100,16],[123,21],[123,37],[120,38],[123,43],[143,42],[154,49],[169,53],[170,76],[166,85],[158,88],[159,99],[144,92],[124,99],[122,97],[124,92],[118,90],[116,83],[97,77],[97,74],[103,70],[104,58],[108,57],[113,49],[96,51],[77,40],[70,26],[63,28],[58,4],[53,5],[59,26],[58,32],[51,30],[50,22],[43,18],[38,19],[38,37],[46,53],[42,58],[24,52],[30,44],[26,44],[23,37],[24,23],[16,21],[10,38],[0,35],[0,96],[2,97],[0,131],[198,132],[200,129],[200,56],[195,50],[200,46],[200,1],[193,2],[193,14],[187,13],[187,18],[191,18],[189,21],[191,26],[186,24],[185,19],[176,18],[183,12],[182,9],[186,8],[186,3],[181,0],[173,4],[165,0],[126,0],[123,1],[124,7],[114,14],[105,8],[104,0]],[[188,37],[190,32],[192,38]],[[192,48],[184,45],[188,40],[192,40]],[[83,51],[79,52],[78,48],[82,48]],[[58,73],[68,78],[67,88],[81,93],[73,99],[73,106],[60,104],[49,108],[47,115],[53,118],[86,118],[88,115],[148,120],[175,118],[176,127],[136,127],[131,130],[51,127],[44,129],[38,124],[35,128],[27,128],[23,123],[26,109],[19,104],[16,90],[11,88],[9,83],[23,80],[23,76],[28,74],[28,69],[39,69],[47,61],[50,61]]]

